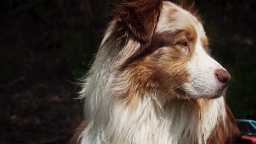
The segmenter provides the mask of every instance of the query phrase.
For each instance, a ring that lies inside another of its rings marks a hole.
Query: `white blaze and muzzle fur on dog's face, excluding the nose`
[[[216,77],[217,69],[224,69],[205,52],[201,38],[205,34],[201,23],[194,24],[197,40],[193,57],[187,64],[189,72],[188,82],[185,83],[185,92],[191,98],[216,98],[223,94],[223,88]],[[225,70],[225,69],[224,69]]]

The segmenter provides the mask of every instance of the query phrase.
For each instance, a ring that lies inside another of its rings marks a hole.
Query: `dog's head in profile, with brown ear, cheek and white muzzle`
[[[112,51],[118,49],[119,73],[128,79],[120,85],[130,85],[123,86],[124,93],[161,89],[184,99],[223,95],[231,76],[208,55],[202,23],[191,11],[141,0],[117,5],[113,15],[101,47],[108,43]]]

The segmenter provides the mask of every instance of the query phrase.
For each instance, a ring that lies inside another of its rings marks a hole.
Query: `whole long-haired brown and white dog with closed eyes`
[[[80,92],[79,143],[231,143],[240,135],[223,97],[231,76],[208,55],[191,7],[140,0],[113,16]]]

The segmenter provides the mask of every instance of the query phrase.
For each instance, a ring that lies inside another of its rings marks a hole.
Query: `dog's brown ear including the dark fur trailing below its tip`
[[[131,61],[150,45],[162,3],[162,0],[138,0],[116,5],[113,15],[117,21],[115,25],[117,38],[123,38],[120,43],[127,42],[127,38],[132,36],[132,39],[141,45],[136,49],[131,48],[132,55],[126,59],[126,62]]]

